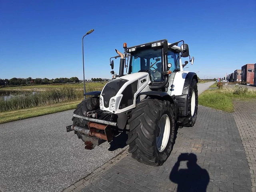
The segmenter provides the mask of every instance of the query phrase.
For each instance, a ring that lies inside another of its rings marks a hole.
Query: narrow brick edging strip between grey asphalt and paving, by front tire
[[[107,170],[112,168],[112,166],[114,166],[118,162],[120,162],[120,160],[122,160],[123,158],[128,156],[128,154],[129,154],[128,147],[129,146],[124,147],[122,152],[117,154],[115,157],[110,159],[108,162],[106,162],[102,166],[94,169],[89,175],[87,175],[83,179],[79,180],[75,184],[72,184],[71,186],[69,186],[68,188],[63,190],[62,192],[77,192],[77,191],[81,190],[82,188],[88,186],[90,183],[92,183],[92,184],[97,183],[98,180],[100,180],[100,176],[102,174],[104,174]]]

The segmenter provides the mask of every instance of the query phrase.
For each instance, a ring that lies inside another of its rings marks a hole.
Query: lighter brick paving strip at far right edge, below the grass
[[[252,179],[252,191],[256,192],[256,100],[234,101],[236,121]]]

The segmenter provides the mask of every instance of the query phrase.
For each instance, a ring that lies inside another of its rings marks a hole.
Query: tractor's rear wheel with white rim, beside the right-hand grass
[[[188,95],[188,116],[184,119],[184,127],[192,127],[196,123],[198,108],[198,90],[196,80],[193,79]]]

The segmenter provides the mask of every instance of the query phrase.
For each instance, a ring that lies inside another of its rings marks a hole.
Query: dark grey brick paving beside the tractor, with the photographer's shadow
[[[197,162],[179,164],[177,160],[182,153],[194,154]],[[141,164],[126,150],[114,162],[98,168],[65,192],[250,192],[251,186],[249,166],[233,114],[198,106],[195,126],[178,130],[172,153],[163,166]]]

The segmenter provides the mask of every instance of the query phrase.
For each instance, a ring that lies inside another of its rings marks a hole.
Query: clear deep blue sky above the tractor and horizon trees
[[[0,0],[0,78],[111,78],[123,43],[184,40],[198,76],[256,63],[256,1]],[[182,61],[188,60],[182,58]],[[119,61],[114,70],[118,73]]]

